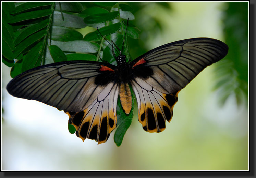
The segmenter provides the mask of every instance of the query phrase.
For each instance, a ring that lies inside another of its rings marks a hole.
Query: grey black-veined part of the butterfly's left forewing
[[[106,87],[100,85],[100,81],[95,84],[95,79],[102,75],[99,69],[99,63],[92,61],[44,65],[15,77],[7,85],[7,90],[15,97],[37,100],[60,110],[80,112],[89,107]],[[104,72],[105,76],[108,75]]]

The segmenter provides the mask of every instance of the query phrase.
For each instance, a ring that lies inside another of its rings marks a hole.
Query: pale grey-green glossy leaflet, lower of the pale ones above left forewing
[[[99,44],[83,41],[83,40],[75,40],[75,41],[51,41],[52,45],[57,45],[62,51],[69,52],[83,52],[83,53],[96,53],[99,50]]]

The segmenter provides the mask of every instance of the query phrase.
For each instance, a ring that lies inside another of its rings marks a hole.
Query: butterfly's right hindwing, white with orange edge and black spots
[[[138,103],[138,120],[143,129],[148,132],[162,132],[165,121],[171,121],[178,92],[162,93],[139,78],[132,80],[131,84]]]

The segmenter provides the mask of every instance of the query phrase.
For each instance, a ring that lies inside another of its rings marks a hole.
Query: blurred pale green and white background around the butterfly
[[[68,116],[10,96],[2,64],[2,170],[248,170],[248,2],[127,2],[140,32],[131,58],[195,37],[219,39],[228,55],[179,93],[161,133],[137,121],[117,147],[113,133],[97,145],[68,131]]]

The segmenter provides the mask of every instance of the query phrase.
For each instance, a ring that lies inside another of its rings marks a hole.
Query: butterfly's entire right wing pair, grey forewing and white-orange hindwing
[[[160,46],[132,61],[135,79],[131,84],[143,129],[164,130],[164,121],[170,122],[179,91],[227,52],[228,46],[219,40],[194,38]]]

